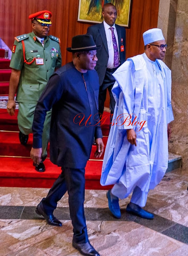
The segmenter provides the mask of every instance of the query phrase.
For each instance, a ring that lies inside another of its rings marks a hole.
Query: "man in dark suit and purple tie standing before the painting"
[[[107,88],[110,94],[110,111],[111,114],[114,113],[116,102],[111,90],[115,79],[112,73],[125,62],[125,28],[115,24],[117,18],[116,7],[110,3],[104,4],[102,16],[104,17],[102,23],[90,26],[87,30],[87,33],[92,35],[94,42],[97,45],[102,45],[97,50],[98,62],[95,67],[100,84],[99,113],[101,113],[101,116],[104,111]]]

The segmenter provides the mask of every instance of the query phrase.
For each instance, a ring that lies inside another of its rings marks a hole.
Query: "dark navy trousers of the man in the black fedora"
[[[84,215],[85,199],[85,169],[62,167],[59,175],[49,193],[43,198],[42,203],[47,214],[52,214],[57,207],[57,202],[65,192],[69,194],[69,210],[73,226],[73,241],[76,243],[88,242],[86,218]]]

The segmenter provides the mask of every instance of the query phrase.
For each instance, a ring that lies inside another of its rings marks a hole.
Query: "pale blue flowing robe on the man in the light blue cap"
[[[145,192],[155,188],[168,167],[167,124],[174,120],[171,71],[161,60],[156,63],[161,71],[162,86],[158,86],[160,99],[154,92],[153,110],[149,106],[148,86],[151,85],[144,54],[129,58],[113,74],[116,79],[112,88],[116,100],[114,125],[106,145],[100,183],[103,186],[121,184],[121,191],[116,194],[121,199],[136,186]],[[128,115],[130,120],[125,120]],[[146,121],[141,130],[139,124],[134,125],[136,121]],[[137,134],[137,146],[127,140],[126,130],[131,128]]]

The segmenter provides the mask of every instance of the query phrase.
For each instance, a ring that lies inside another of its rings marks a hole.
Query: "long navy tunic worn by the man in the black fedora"
[[[33,148],[41,148],[45,114],[52,108],[51,162],[62,167],[85,168],[94,136],[102,138],[100,126],[95,126],[98,122],[95,120],[99,120],[98,93],[99,82],[95,70],[82,74],[73,62],[59,68],[51,76],[35,109]]]

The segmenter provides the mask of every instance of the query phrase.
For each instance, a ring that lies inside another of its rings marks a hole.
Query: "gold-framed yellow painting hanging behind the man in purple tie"
[[[116,24],[129,28],[132,0],[79,0],[78,21],[101,23],[102,8],[106,3],[116,6],[118,12]]]

